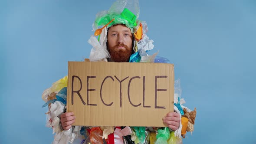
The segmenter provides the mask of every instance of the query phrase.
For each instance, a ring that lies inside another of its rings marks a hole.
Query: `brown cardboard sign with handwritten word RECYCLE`
[[[73,125],[164,127],[174,111],[174,65],[68,62],[67,111]]]

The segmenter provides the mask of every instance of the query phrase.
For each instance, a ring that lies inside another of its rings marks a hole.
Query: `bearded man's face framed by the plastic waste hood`
[[[128,62],[132,53],[131,30],[118,24],[108,28],[108,51],[114,62]]]

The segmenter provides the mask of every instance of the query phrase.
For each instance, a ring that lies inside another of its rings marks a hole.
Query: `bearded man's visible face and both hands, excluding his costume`
[[[133,34],[131,29],[123,24],[116,24],[108,28],[107,49],[110,54],[109,61],[112,62],[129,62],[133,54]],[[60,115],[60,122],[63,130],[69,130],[75,122],[73,112],[66,112]],[[163,118],[164,124],[175,131],[180,125],[180,115],[176,112],[169,112]]]

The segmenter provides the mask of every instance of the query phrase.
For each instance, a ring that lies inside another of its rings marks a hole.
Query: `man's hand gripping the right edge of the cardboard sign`
[[[164,118],[163,123],[166,124],[173,131],[176,131],[180,126],[180,115],[176,112],[169,112]]]

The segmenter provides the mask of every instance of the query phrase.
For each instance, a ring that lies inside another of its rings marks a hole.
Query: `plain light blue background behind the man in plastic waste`
[[[89,57],[97,12],[115,0],[0,1],[0,143],[49,144],[41,94]],[[256,1],[141,0],[154,49],[197,107],[184,144],[256,144]]]

